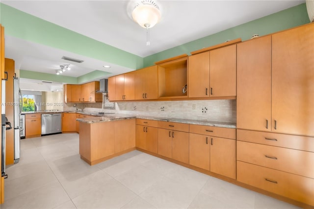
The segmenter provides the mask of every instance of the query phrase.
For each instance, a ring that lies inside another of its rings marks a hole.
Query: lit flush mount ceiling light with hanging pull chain
[[[160,20],[160,10],[153,0],[142,0],[136,4],[132,12],[133,20],[146,28],[146,45],[149,46],[149,28],[154,27]]]

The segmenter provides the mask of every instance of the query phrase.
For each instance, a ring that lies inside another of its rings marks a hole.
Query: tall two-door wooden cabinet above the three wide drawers
[[[237,128],[314,136],[314,24],[238,44]]]

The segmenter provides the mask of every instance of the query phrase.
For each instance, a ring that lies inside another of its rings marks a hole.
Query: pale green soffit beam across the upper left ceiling
[[[131,69],[143,67],[143,58],[140,56],[57,26],[3,3],[0,3],[0,23],[5,27],[6,35]]]

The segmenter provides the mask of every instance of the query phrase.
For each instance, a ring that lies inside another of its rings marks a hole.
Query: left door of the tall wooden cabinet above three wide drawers
[[[271,36],[237,45],[236,127],[270,131]]]

